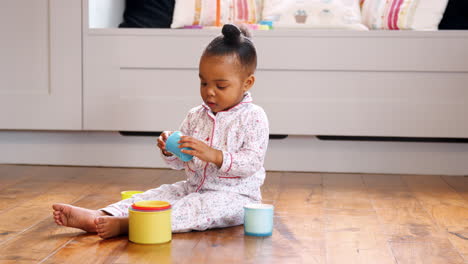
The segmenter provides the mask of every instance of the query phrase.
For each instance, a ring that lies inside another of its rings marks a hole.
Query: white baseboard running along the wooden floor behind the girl
[[[468,175],[468,144],[270,140],[267,170]],[[156,138],[118,132],[0,131],[0,163],[166,168]]]

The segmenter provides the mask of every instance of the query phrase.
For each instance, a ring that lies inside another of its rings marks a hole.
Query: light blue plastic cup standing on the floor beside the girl
[[[271,236],[273,234],[273,209],[271,204],[244,206],[244,233],[248,236]]]

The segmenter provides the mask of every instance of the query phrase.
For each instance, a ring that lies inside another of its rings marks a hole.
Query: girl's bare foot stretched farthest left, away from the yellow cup
[[[69,204],[54,204],[52,208],[54,209],[53,215],[57,225],[75,227],[93,233],[97,232],[94,219],[105,215],[101,211],[89,210]]]

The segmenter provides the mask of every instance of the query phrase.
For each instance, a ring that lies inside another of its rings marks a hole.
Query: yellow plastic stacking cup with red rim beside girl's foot
[[[172,240],[171,205],[164,201],[140,201],[129,209],[128,238],[138,244],[162,244]]]

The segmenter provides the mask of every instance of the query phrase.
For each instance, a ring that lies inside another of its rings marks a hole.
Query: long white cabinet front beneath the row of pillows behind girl
[[[121,3],[84,1],[84,129],[175,129],[201,102],[198,60],[220,31],[118,29]],[[468,137],[466,31],[276,29],[254,41],[252,93],[272,134]]]

